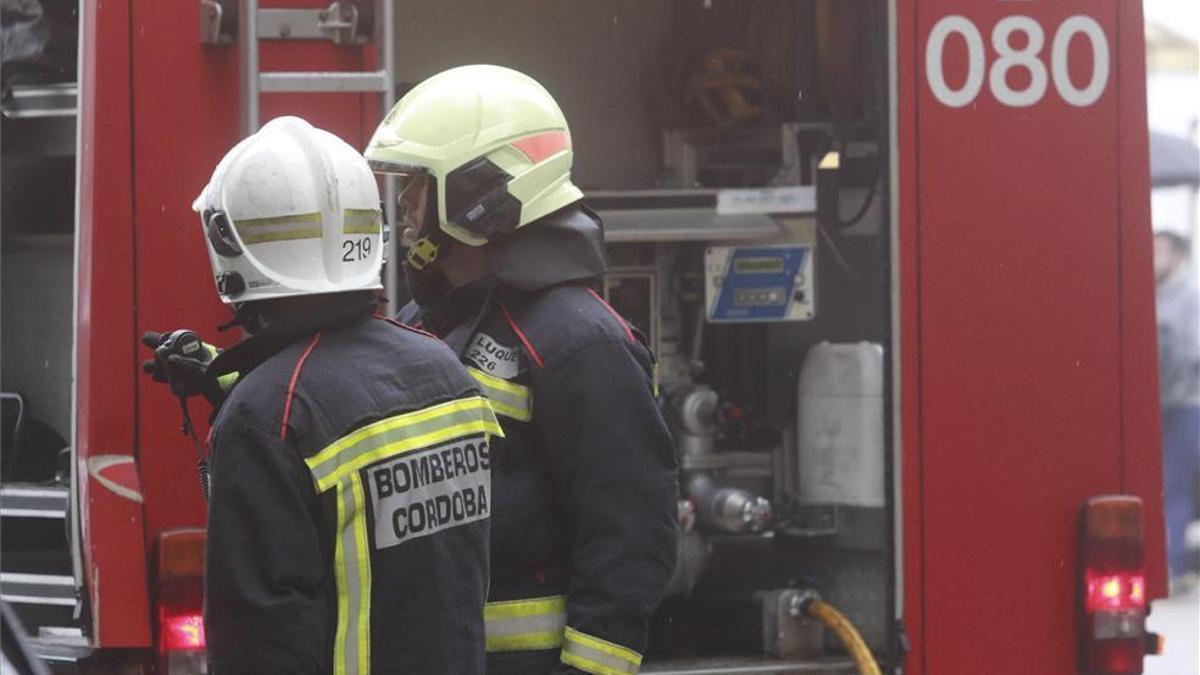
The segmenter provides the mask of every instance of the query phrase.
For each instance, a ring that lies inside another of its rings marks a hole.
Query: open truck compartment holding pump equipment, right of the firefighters
[[[558,100],[605,294],[658,353],[684,534],[647,671],[853,671],[808,590],[902,658],[884,10],[397,5],[401,94],[496,62]]]

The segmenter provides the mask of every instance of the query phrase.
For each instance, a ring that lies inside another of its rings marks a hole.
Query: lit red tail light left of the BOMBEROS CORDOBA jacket
[[[176,530],[158,537],[158,673],[206,673],[204,652],[204,531]]]

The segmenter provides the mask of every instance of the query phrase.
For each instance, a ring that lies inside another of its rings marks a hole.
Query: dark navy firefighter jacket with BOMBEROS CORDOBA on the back
[[[437,339],[370,316],[218,357],[210,673],[484,671],[499,432]]]

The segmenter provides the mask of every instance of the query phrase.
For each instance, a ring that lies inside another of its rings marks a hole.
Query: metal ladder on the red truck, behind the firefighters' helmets
[[[323,10],[260,8],[258,0],[200,0],[200,42],[227,44],[236,40],[241,71],[241,131],[259,127],[262,94],[379,94],[379,119],[396,102],[396,26],[394,0],[335,0]],[[370,71],[263,71],[258,46],[263,40],[329,40],[335,44],[376,46]],[[384,222],[395,222],[396,184],[383,179]],[[396,258],[398,238],[385,229],[385,261]],[[384,279],[395,304],[390,275]],[[397,307],[389,306],[395,313]]]

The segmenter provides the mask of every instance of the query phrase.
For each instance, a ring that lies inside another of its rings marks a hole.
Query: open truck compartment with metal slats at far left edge
[[[2,8],[0,597],[37,635],[77,619],[68,490],[78,12],[71,1]]]

